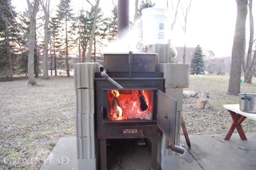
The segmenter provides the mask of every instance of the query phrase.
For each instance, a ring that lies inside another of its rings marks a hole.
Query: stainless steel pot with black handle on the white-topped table
[[[255,93],[240,93],[239,109],[243,112],[256,113]]]

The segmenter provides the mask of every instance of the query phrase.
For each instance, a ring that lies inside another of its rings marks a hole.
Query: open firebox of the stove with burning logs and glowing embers
[[[107,90],[108,121],[151,120],[153,90]]]

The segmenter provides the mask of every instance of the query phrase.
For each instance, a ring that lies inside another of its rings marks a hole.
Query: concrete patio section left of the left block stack
[[[41,170],[77,170],[76,138],[62,137],[44,161]]]

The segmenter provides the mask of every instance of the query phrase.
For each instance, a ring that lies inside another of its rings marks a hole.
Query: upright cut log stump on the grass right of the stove
[[[198,91],[196,97],[196,108],[208,109],[210,107],[212,95],[208,92]]]

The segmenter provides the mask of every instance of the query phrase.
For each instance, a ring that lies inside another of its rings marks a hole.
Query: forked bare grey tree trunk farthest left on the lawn
[[[34,45],[35,45],[35,22],[36,13],[38,11],[39,0],[35,0],[31,8],[29,0],[28,4],[28,16],[29,16],[29,36],[28,36],[28,84],[36,85],[34,75]]]

